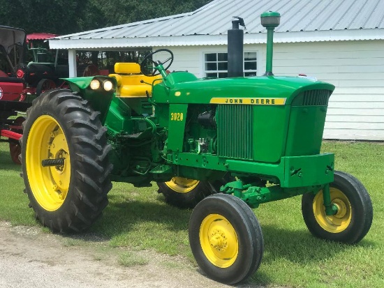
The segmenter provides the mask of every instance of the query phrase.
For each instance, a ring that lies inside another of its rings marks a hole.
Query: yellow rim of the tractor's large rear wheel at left
[[[29,130],[25,165],[31,192],[47,211],[61,207],[68,194],[71,162],[66,137],[59,123],[48,115],[39,116]],[[43,167],[42,160],[64,158],[64,165]]]

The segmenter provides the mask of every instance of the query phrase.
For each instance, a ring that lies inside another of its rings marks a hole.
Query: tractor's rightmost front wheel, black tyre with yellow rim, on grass
[[[334,215],[325,213],[323,191],[302,196],[302,215],[309,232],[325,240],[359,242],[368,233],[374,214],[367,190],[352,175],[335,171],[330,195],[338,209]]]

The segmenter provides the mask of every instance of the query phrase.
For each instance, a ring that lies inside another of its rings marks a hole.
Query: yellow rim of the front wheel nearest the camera
[[[227,218],[209,214],[200,225],[200,245],[205,257],[219,268],[228,268],[237,259],[239,242]]]

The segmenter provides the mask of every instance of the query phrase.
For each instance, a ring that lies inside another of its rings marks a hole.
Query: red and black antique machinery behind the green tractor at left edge
[[[65,82],[60,78],[69,74],[66,51],[52,53],[45,47],[32,45],[34,40],[46,40],[54,36],[49,33],[26,35],[22,29],[0,26],[0,142],[9,142],[10,156],[16,163],[20,163],[19,139],[24,117],[15,116],[17,112],[26,112],[31,106],[26,102],[27,96],[40,96],[50,89],[65,88]],[[29,63],[24,62],[27,51],[32,54]],[[77,72],[79,76],[92,76],[98,74],[98,68],[90,63],[82,63]]]

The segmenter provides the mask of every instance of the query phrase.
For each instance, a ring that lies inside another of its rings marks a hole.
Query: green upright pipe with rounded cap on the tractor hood
[[[273,76],[272,58],[273,58],[273,33],[274,29],[280,24],[280,13],[265,12],[260,16],[261,24],[267,28],[267,61],[264,76]],[[229,63],[228,63],[229,68]]]

